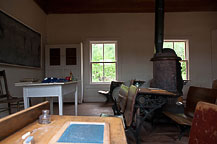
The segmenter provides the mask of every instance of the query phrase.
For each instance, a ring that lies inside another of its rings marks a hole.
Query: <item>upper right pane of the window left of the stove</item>
[[[104,44],[104,61],[115,62],[115,44]]]

